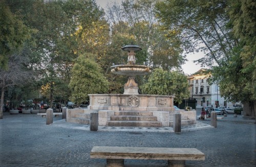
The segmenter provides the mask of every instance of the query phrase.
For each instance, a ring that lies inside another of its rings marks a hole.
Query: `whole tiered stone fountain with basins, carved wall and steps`
[[[135,64],[135,51],[141,50],[138,45],[126,45],[122,50],[128,52],[127,64],[112,66],[111,72],[127,76],[124,93],[89,94],[88,109],[68,109],[67,121],[89,124],[88,116],[82,115],[98,112],[98,124],[101,126],[173,126],[174,96],[139,94],[135,77],[150,74],[152,68]],[[196,112],[180,110],[180,113],[182,125],[196,123]]]

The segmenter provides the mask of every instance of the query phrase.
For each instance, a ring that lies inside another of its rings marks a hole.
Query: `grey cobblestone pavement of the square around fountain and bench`
[[[90,131],[86,125],[67,123],[60,117],[54,118],[52,125],[46,125],[46,118],[34,114],[5,113],[0,120],[0,166],[105,166],[104,159],[90,158],[93,146],[197,148],[205,154],[205,160],[186,161],[186,166],[256,165],[254,121],[228,115],[218,120],[217,128],[198,128],[206,124],[210,121],[184,126],[181,133],[118,128],[102,131],[103,127]],[[124,164],[156,167],[166,166],[167,161],[124,160]]]

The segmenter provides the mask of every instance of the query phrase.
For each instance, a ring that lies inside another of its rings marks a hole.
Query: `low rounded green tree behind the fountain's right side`
[[[174,101],[178,103],[189,97],[187,77],[178,71],[155,69],[141,87],[143,94],[174,95]]]

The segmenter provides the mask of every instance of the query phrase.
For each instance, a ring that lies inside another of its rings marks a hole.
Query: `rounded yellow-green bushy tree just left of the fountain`
[[[103,76],[97,63],[87,57],[93,55],[80,55],[72,69],[70,88],[71,100],[76,103],[87,102],[88,94],[106,93],[109,90],[109,82]]]

